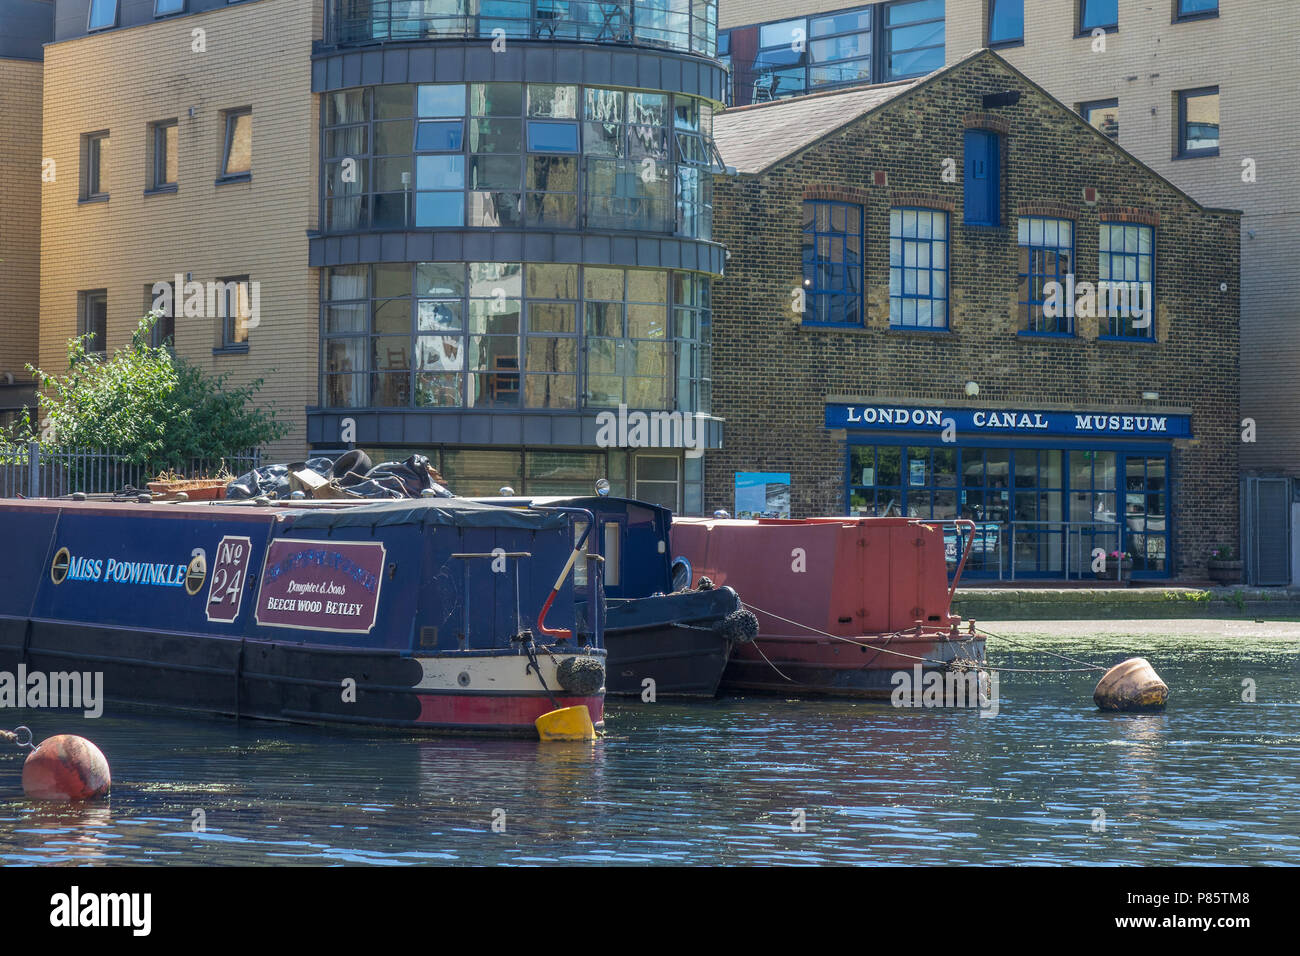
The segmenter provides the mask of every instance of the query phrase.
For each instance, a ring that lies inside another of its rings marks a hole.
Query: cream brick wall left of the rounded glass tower
[[[259,0],[46,48],[44,153],[57,182],[43,193],[40,363],[66,364],[77,293],[108,289],[108,349],[129,341],[144,287],[247,273],[261,284],[260,324],[246,355],[213,355],[216,319],[176,320],[179,355],[237,384],[264,378],[259,398],[292,424],[273,459],[307,447],[317,398],[317,273],[307,230],[317,215],[317,112],[312,38],[320,0]],[[202,29],[207,51],[194,52]],[[252,181],[217,186],[222,111],[252,107]],[[190,116],[190,111],[194,116]],[[179,190],[144,195],[147,126],[179,121]],[[108,129],[109,200],[78,203],[81,135]]]

